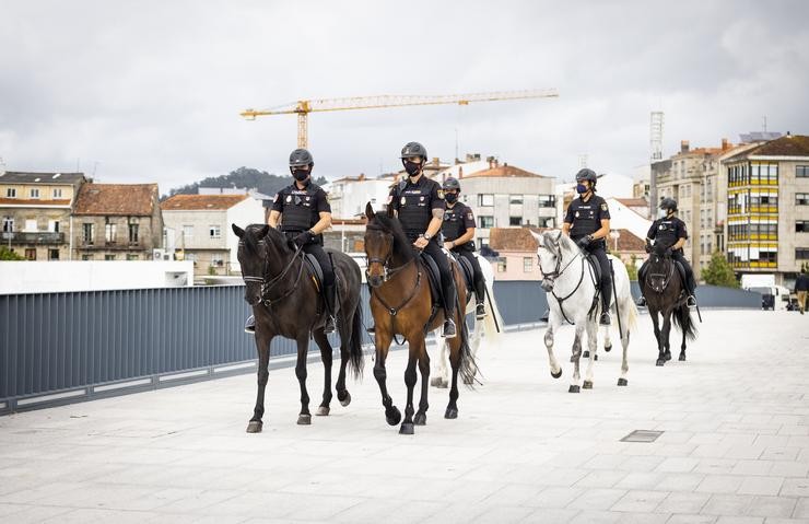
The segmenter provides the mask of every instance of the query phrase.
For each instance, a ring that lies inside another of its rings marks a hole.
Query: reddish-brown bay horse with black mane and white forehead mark
[[[408,241],[399,221],[389,214],[374,213],[368,203],[365,208],[368,223],[365,230],[365,254],[368,257],[367,281],[372,288],[371,312],[376,325],[375,345],[376,362],[374,377],[379,384],[382,404],[385,406],[385,419],[390,426],[401,420],[401,412],[394,406],[386,385],[387,371],[385,359],[395,335],[403,335],[408,341],[408,366],[404,370],[404,384],[408,386],[408,401],[404,408],[404,420],[399,433],[413,434],[414,426],[424,426],[427,420],[427,389],[430,385],[430,357],[425,337],[429,330],[436,329],[444,323],[444,312],[433,307],[430,282],[425,267],[417,256],[415,248]],[[458,290],[455,325],[458,336],[447,340],[449,345],[449,364],[453,369],[449,389],[449,404],[444,418],[458,417],[458,372],[471,383],[474,372],[469,349],[464,311],[466,288],[457,263],[452,264],[455,287]],[[419,410],[413,414],[413,388],[415,387],[415,366],[421,372],[421,399]]]

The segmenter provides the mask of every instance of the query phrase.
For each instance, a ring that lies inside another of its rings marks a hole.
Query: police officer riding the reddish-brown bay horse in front
[[[409,142],[400,155],[408,178],[390,190],[388,206],[397,212],[404,234],[413,245],[435,260],[441,272],[442,294],[444,295],[444,328],[442,336],[456,335],[455,303],[457,302],[455,280],[449,268],[449,258],[441,251],[438,232],[444,223],[444,191],[437,182],[423,175],[427,151],[419,142]]]

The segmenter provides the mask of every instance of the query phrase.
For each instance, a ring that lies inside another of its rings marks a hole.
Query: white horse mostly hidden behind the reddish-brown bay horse
[[[474,319],[476,317],[474,315],[472,315],[472,331],[469,336],[469,347],[472,349],[472,365],[474,366],[474,374],[477,375],[478,362],[476,360],[476,357],[478,354],[478,349],[480,348],[481,338],[485,338],[485,342],[490,347],[496,346],[500,341],[500,334],[501,331],[503,331],[503,317],[500,315],[497,302],[494,300],[494,270],[492,269],[492,265],[489,263],[489,260],[479,256],[477,253],[474,253],[473,255],[478,258],[478,264],[480,264],[480,270],[483,273],[483,279],[485,280],[486,294],[489,295],[483,301],[483,303],[485,304],[486,316],[481,322]],[[470,300],[466,308],[467,315],[469,313],[474,313],[474,300]],[[458,329],[460,328],[461,326],[458,326]],[[430,384],[435,387],[447,387],[447,385],[449,384],[449,369],[447,368],[448,348],[444,339],[442,339],[438,335],[438,331],[439,330],[436,329],[434,333],[435,339],[438,340],[438,346],[441,346],[441,354],[437,359],[437,366],[434,377],[432,381],[430,381]]]

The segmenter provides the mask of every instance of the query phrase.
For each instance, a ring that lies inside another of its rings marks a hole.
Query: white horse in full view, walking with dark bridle
[[[551,365],[551,376],[562,376],[562,368],[553,353],[553,334],[563,322],[575,325],[576,335],[573,340],[573,383],[570,393],[578,393],[581,387],[593,388],[593,364],[597,360],[596,349],[598,347],[597,319],[601,314],[601,300],[595,300],[598,289],[596,273],[585,259],[585,255],[578,246],[562,231],[546,231],[541,234],[531,232],[539,242],[537,257],[539,258],[539,270],[542,272],[542,289],[548,293],[548,305],[551,315],[548,321],[548,330],[544,334],[544,345],[548,348],[548,359]],[[612,326],[620,329],[623,357],[621,361],[621,376],[618,379],[619,386],[625,386],[626,372],[626,348],[630,345],[630,331],[634,330],[637,319],[637,308],[630,293],[630,277],[623,263],[609,256],[613,268],[613,296],[610,296],[611,310],[613,312]],[[618,295],[618,315],[615,315],[615,295]],[[615,318],[618,322],[615,322]],[[579,359],[582,357],[582,336],[587,331],[587,346],[589,349],[589,363],[584,384],[579,387]],[[605,327],[605,350],[612,348],[610,342],[609,326]]]

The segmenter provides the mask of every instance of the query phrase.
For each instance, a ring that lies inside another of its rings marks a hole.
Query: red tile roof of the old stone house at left
[[[74,214],[148,217],[157,201],[157,184],[83,184]]]

